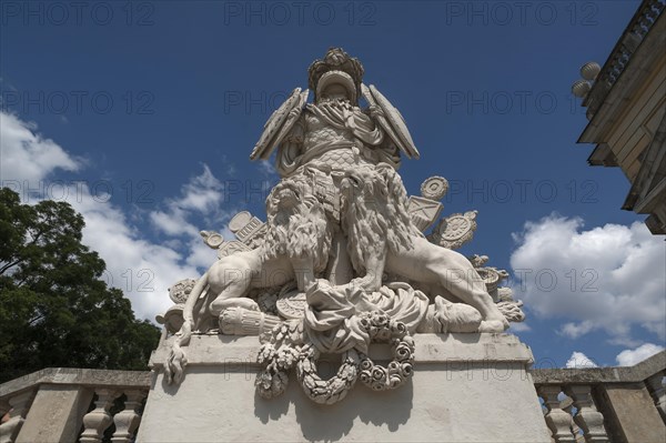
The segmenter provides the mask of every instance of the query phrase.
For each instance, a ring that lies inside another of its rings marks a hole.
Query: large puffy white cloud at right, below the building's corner
[[[582,230],[581,219],[551,215],[514,234],[514,288],[542,318],[559,318],[576,339],[605,331],[616,344],[637,345],[632,328],[666,335],[666,245],[644,223]],[[519,286],[519,288],[518,288]]]

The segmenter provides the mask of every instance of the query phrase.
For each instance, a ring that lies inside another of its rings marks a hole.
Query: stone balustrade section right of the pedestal
[[[553,441],[663,442],[666,351],[630,368],[532,370]]]

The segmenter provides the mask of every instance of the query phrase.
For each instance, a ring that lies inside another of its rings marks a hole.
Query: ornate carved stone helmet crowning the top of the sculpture
[[[357,105],[363,73],[363,64],[359,59],[350,57],[342,48],[331,48],[323,60],[315,60],[310,66],[307,87],[314,92],[314,101],[317,101],[326,85],[342,84],[350,91],[352,103]]]

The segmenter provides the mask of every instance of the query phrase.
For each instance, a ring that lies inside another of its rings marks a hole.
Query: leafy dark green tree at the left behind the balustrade
[[[69,203],[0,189],[0,382],[43,368],[144,370],[160,332],[101,280]]]

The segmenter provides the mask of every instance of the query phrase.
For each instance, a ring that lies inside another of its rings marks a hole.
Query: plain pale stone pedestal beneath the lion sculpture
[[[255,394],[255,336],[192,338],[184,381],[167,385],[168,340],[151,359],[152,386],[137,441],[551,442],[526,372],[532,352],[517,338],[417,334],[415,342],[406,385],[373,392],[357,382],[341,402],[319,405],[293,373],[282,396]],[[372,346],[373,360],[389,356],[387,346]],[[322,376],[335,371],[334,363],[320,364]]]

